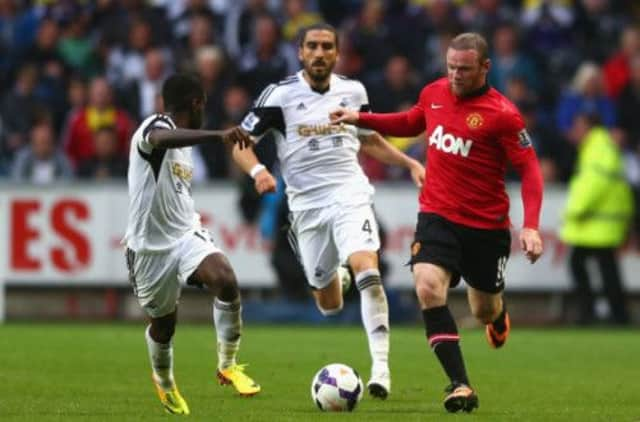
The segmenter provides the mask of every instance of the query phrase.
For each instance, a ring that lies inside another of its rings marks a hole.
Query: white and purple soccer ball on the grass
[[[362,399],[362,380],[351,367],[329,364],[311,382],[311,399],[327,412],[351,412]]]

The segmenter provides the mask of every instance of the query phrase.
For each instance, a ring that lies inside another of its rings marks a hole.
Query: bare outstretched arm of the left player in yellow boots
[[[158,128],[149,134],[149,143],[154,148],[183,148],[212,141],[234,144],[240,149],[253,145],[249,134],[240,127],[226,130]]]

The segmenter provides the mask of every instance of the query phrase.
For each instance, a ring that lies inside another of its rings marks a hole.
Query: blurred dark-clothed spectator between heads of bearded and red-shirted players
[[[413,104],[421,86],[409,59],[392,56],[385,66],[384,79],[370,84],[371,108],[390,113],[403,104]]]

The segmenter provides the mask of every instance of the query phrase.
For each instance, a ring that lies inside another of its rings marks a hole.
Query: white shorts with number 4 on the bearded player
[[[315,289],[327,287],[354,252],[380,249],[378,223],[369,204],[293,212],[290,234],[307,281]]]

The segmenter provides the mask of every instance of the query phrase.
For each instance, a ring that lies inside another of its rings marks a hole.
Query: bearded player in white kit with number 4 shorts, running
[[[385,399],[391,388],[389,310],[378,269],[380,240],[372,210],[373,187],[357,154],[362,148],[384,163],[406,167],[418,186],[424,167],[376,132],[331,124],[329,113],[336,106],[356,110],[369,106],[360,82],[332,72],[338,58],[338,37],[332,26],[305,28],[299,43],[304,68],[268,86],[241,126],[256,139],[269,131],[276,138],[292,213],[291,233],[322,314],[342,309],[341,265],[347,264],[355,275],[373,361],[367,386],[372,396]],[[235,147],[233,155],[255,179],[258,192],[271,188],[273,177],[251,149]]]

